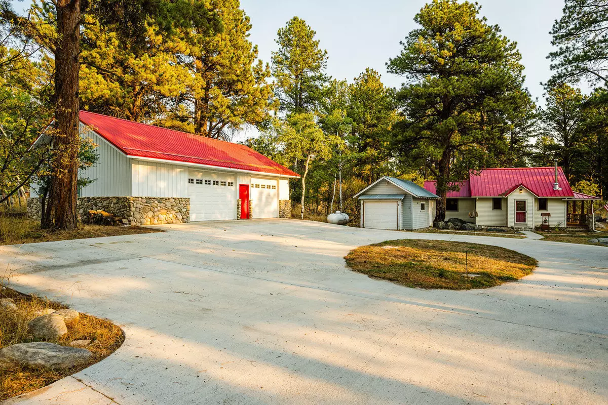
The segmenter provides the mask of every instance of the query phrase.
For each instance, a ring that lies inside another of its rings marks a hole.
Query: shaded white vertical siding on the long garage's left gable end
[[[98,146],[97,163],[78,174],[95,180],[80,190],[81,197],[125,197],[131,196],[131,163],[125,154],[91,129],[80,124],[81,137],[91,138]],[[159,196],[160,197],[160,196]]]

